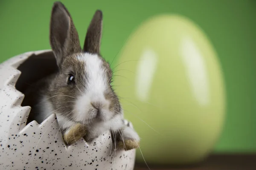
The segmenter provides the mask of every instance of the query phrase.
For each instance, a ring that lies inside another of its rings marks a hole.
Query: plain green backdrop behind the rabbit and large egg
[[[53,0],[0,0],[0,62],[49,49]],[[180,14],[198,24],[218,53],[227,116],[216,152],[256,152],[255,0],[62,0],[81,43],[96,9],[103,11],[102,55],[112,61],[129,35],[156,14]],[[115,66],[115,59],[112,66]]]

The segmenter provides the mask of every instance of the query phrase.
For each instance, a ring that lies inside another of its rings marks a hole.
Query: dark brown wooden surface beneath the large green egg
[[[256,170],[256,154],[212,155],[201,164],[187,167],[149,167],[150,170]],[[134,170],[148,170],[148,167],[137,164]]]

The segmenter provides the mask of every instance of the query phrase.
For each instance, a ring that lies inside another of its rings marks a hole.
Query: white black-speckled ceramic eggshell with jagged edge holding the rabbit
[[[36,121],[26,125],[30,106],[21,106],[21,91],[26,83],[52,72],[54,60],[52,51],[43,50],[12,57],[0,65],[0,169],[133,170],[135,150],[115,150],[108,131],[67,147],[55,114],[40,125]]]

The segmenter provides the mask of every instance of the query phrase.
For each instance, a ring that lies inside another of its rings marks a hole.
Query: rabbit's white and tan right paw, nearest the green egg
[[[140,137],[133,129],[131,122],[125,121],[124,124],[119,133],[118,147],[126,151],[140,147]]]

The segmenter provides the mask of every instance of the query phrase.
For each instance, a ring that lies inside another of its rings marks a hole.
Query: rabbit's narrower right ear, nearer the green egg
[[[87,29],[84,40],[84,51],[99,54],[100,41],[102,37],[102,11],[97,10]]]

